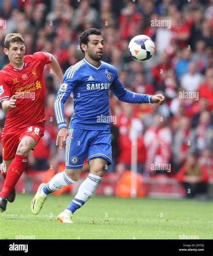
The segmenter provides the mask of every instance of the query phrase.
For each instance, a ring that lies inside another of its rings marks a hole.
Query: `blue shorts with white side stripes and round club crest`
[[[79,169],[83,167],[84,159],[87,161],[94,157],[103,157],[111,165],[111,132],[91,131],[70,128],[73,139],[66,139],[66,168]]]

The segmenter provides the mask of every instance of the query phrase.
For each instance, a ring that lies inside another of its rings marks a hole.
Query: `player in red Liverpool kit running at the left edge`
[[[60,82],[63,77],[58,61],[50,53],[24,56],[21,34],[10,33],[5,37],[4,53],[10,63],[0,71],[0,101],[7,112],[1,138],[1,174],[5,181],[0,192],[0,212],[6,210],[7,201],[14,201],[14,188],[27,165],[27,155],[44,135],[44,66],[49,64]]]

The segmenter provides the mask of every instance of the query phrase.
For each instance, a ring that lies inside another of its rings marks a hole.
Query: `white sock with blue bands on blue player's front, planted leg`
[[[97,175],[89,174],[84,182],[80,185],[78,193],[66,210],[70,210],[72,213],[74,213],[75,210],[83,206],[96,191],[101,179],[102,178]]]

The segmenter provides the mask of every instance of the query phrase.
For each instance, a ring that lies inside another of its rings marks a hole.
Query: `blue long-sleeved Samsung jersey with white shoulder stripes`
[[[54,109],[58,128],[67,128],[64,103],[72,93],[74,114],[69,128],[84,130],[110,130],[109,90],[120,101],[152,103],[151,95],[128,91],[119,81],[114,66],[101,61],[94,66],[86,58],[67,69],[55,99]]]

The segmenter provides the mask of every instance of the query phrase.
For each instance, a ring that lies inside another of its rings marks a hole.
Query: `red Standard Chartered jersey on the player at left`
[[[24,56],[21,69],[10,63],[0,71],[0,100],[9,100],[16,95],[16,108],[8,111],[5,130],[25,128],[36,123],[45,123],[44,66],[52,62],[47,52],[35,52]]]

